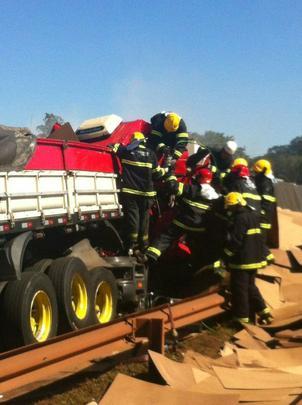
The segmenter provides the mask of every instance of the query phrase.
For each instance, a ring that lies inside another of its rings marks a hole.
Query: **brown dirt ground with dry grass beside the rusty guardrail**
[[[182,361],[183,353],[195,350],[210,357],[218,357],[223,343],[237,331],[236,325],[223,315],[179,331],[179,342],[173,348],[173,342],[167,338],[168,357]],[[124,363],[106,372],[98,370],[80,373],[48,387],[23,396],[9,404],[16,405],[84,405],[90,401],[99,401],[118,373],[127,374],[146,381],[161,383],[159,377],[149,372],[146,361]]]

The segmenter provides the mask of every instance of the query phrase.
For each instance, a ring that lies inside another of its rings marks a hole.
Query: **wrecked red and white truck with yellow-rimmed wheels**
[[[23,166],[20,142],[11,166],[0,161],[2,350],[145,307],[146,268],[123,256],[120,167],[108,144],[149,124],[109,116],[97,131],[93,143],[68,126],[49,138],[23,134]]]

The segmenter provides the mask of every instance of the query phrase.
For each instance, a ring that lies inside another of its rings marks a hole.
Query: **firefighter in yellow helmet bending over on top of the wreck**
[[[160,159],[166,152],[172,165],[187,150],[188,133],[184,120],[174,112],[161,112],[151,118],[148,147]]]

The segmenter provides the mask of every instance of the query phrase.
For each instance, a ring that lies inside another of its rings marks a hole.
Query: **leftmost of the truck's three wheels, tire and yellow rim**
[[[42,342],[56,336],[58,306],[55,290],[47,275],[24,272],[21,280],[8,282],[1,296],[1,315],[6,348]]]

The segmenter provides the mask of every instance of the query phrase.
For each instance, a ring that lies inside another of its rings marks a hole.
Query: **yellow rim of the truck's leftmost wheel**
[[[39,290],[31,300],[30,327],[37,342],[47,340],[52,325],[52,308],[48,295]]]

